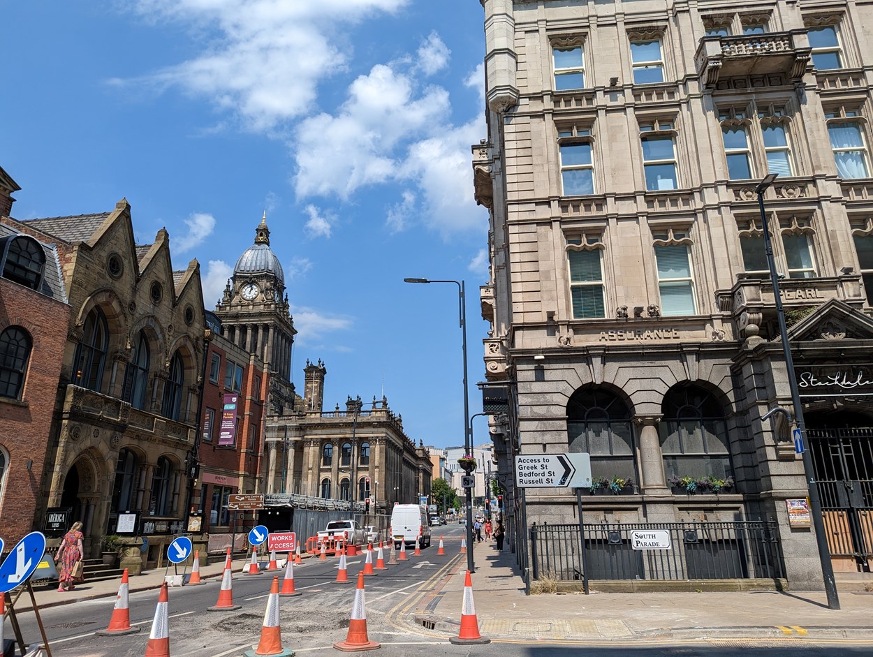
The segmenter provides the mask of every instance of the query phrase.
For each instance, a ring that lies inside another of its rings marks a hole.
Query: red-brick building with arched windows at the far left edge
[[[0,215],[18,186],[0,168]],[[0,224],[0,537],[35,525],[70,306],[58,250]]]

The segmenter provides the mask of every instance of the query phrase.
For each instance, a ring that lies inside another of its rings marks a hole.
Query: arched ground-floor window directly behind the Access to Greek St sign
[[[567,442],[570,452],[591,455],[592,477],[639,481],[630,411],[618,395],[601,388],[577,390],[567,403]]]

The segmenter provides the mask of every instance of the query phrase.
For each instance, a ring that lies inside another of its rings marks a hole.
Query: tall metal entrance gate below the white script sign
[[[873,428],[808,429],[835,571],[873,567]]]

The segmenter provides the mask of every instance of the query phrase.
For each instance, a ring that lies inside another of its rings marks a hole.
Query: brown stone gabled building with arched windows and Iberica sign
[[[107,213],[3,222],[54,245],[72,309],[45,505],[84,523],[88,556],[120,514],[135,514],[154,563],[186,515],[203,371],[199,264],[173,270],[166,229],[135,243],[124,199]]]

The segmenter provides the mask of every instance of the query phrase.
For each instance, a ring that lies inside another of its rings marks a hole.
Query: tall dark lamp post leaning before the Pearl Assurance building
[[[764,230],[764,249],[766,262],[770,268],[770,282],[773,284],[773,298],[776,302],[776,317],[779,319],[779,334],[782,340],[782,352],[785,354],[785,367],[787,369],[788,388],[791,390],[791,404],[794,406],[794,420],[801,432],[801,440],[805,440],[806,423],[803,421],[803,407],[801,407],[801,395],[797,389],[797,377],[794,374],[794,359],[791,357],[791,346],[788,344],[788,329],[785,324],[785,310],[782,307],[782,299],[779,292],[779,274],[776,273],[776,263],[773,260],[773,243],[770,240],[770,232],[767,229],[766,212],[764,210],[764,192],[776,180],[777,174],[769,174],[755,188],[758,195],[758,207],[761,213],[761,229]],[[813,520],[815,530],[815,543],[818,546],[819,561],[821,562],[821,574],[824,578],[824,589],[828,594],[828,608],[839,609],[840,599],[836,594],[836,582],[834,579],[834,567],[830,563],[830,551],[828,540],[825,536],[824,517],[821,514],[821,498],[819,497],[818,482],[815,481],[813,471],[813,458],[808,449],[804,449],[803,471],[807,479],[809,489],[809,512]]]

